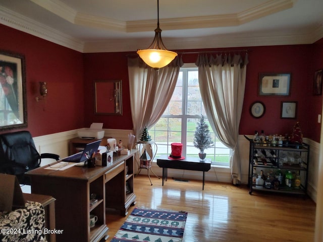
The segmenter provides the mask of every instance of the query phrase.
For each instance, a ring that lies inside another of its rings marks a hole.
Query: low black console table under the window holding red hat
[[[208,159],[200,160],[197,157],[186,157],[184,160],[171,160],[167,155],[161,155],[157,159],[157,165],[163,168],[163,186],[165,181],[167,181],[167,168],[203,171],[202,190],[204,190],[205,171],[211,168],[211,161]]]

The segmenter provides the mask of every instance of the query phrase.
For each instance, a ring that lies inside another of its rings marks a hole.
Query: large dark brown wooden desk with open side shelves
[[[114,157],[113,162],[107,166],[93,168],[72,166],[64,170],[50,170],[45,169],[47,166],[42,166],[26,173],[31,178],[32,193],[56,198],[56,229],[64,230],[62,234],[56,235],[57,241],[94,242],[109,237],[107,236],[109,228],[105,221],[106,204],[109,208],[120,209],[123,214],[130,205],[135,204],[136,196],[133,192],[135,152],[137,151],[133,150],[130,155]],[[126,165],[129,167],[127,177]],[[126,194],[126,181],[131,187],[128,194]],[[96,194],[98,200],[93,206],[90,206],[90,194]],[[107,194],[109,196],[106,196]],[[118,204],[115,201],[118,201]],[[90,214],[98,217],[93,228],[89,226]]]

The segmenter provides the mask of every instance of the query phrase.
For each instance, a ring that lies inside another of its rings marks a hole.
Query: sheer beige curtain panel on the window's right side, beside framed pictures
[[[239,124],[246,83],[248,55],[198,56],[198,80],[210,126],[220,141],[232,149],[232,174],[241,180],[238,149]]]

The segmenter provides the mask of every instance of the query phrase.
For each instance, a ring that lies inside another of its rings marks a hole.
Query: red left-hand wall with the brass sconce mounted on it
[[[40,136],[84,127],[82,53],[4,25],[0,32],[0,49],[25,55],[26,130]],[[36,102],[40,81],[47,82],[48,95]]]

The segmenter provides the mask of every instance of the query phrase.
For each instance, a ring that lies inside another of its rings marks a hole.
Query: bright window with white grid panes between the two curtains
[[[198,85],[198,69],[181,68],[172,99],[158,122],[148,132],[157,144],[159,155],[171,153],[171,143],[183,144],[182,155],[198,157],[199,150],[193,145],[196,123],[200,116],[206,118]],[[214,147],[205,150],[206,158],[211,159],[212,165],[229,167],[231,149],[224,146],[216,135],[209,130],[214,141]]]

